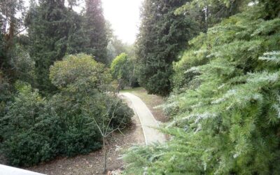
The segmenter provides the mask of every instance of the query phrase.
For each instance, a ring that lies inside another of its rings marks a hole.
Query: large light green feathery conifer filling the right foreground
[[[243,7],[174,65],[166,144],[131,148],[128,174],[279,174],[280,3]]]

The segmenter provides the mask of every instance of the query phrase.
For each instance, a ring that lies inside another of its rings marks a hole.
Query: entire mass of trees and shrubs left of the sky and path
[[[10,165],[89,153],[102,146],[94,120],[109,132],[130,123],[100,63],[110,60],[102,3],[77,13],[78,2],[0,2],[0,154]]]

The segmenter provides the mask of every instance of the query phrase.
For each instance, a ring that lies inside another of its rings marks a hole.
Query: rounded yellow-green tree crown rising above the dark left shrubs
[[[50,66],[50,80],[59,90],[88,92],[111,90],[111,74],[104,64],[85,54],[67,55]]]

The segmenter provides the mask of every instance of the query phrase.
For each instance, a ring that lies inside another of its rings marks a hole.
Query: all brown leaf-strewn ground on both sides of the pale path
[[[153,94],[147,94],[144,88],[133,89],[130,92],[137,95],[144,101],[157,120],[161,122],[166,122],[168,120],[168,118],[163,114],[162,109],[155,109],[155,106],[163,104],[164,98]],[[130,105],[130,102],[127,102],[127,104]],[[133,125],[123,130],[123,134],[120,132],[113,133],[113,137],[109,145],[109,155],[107,160],[107,169],[109,171],[122,169],[124,163],[123,160],[120,159],[120,155],[124,153],[127,148],[136,144],[145,144],[144,134],[138,116],[134,116],[132,121]],[[1,156],[0,160],[4,163]],[[102,150],[99,150],[87,155],[78,155],[73,158],[57,158],[56,160],[52,160],[42,165],[37,165],[35,167],[29,167],[28,169],[34,172],[50,175],[102,174],[103,161]]]

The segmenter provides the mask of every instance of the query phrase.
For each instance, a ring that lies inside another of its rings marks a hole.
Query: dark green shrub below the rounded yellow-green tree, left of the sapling
[[[58,118],[59,133],[55,142],[59,155],[73,156],[101,148],[97,127],[83,115],[83,99],[78,97],[76,94],[60,93],[52,96],[48,102],[48,108]]]

